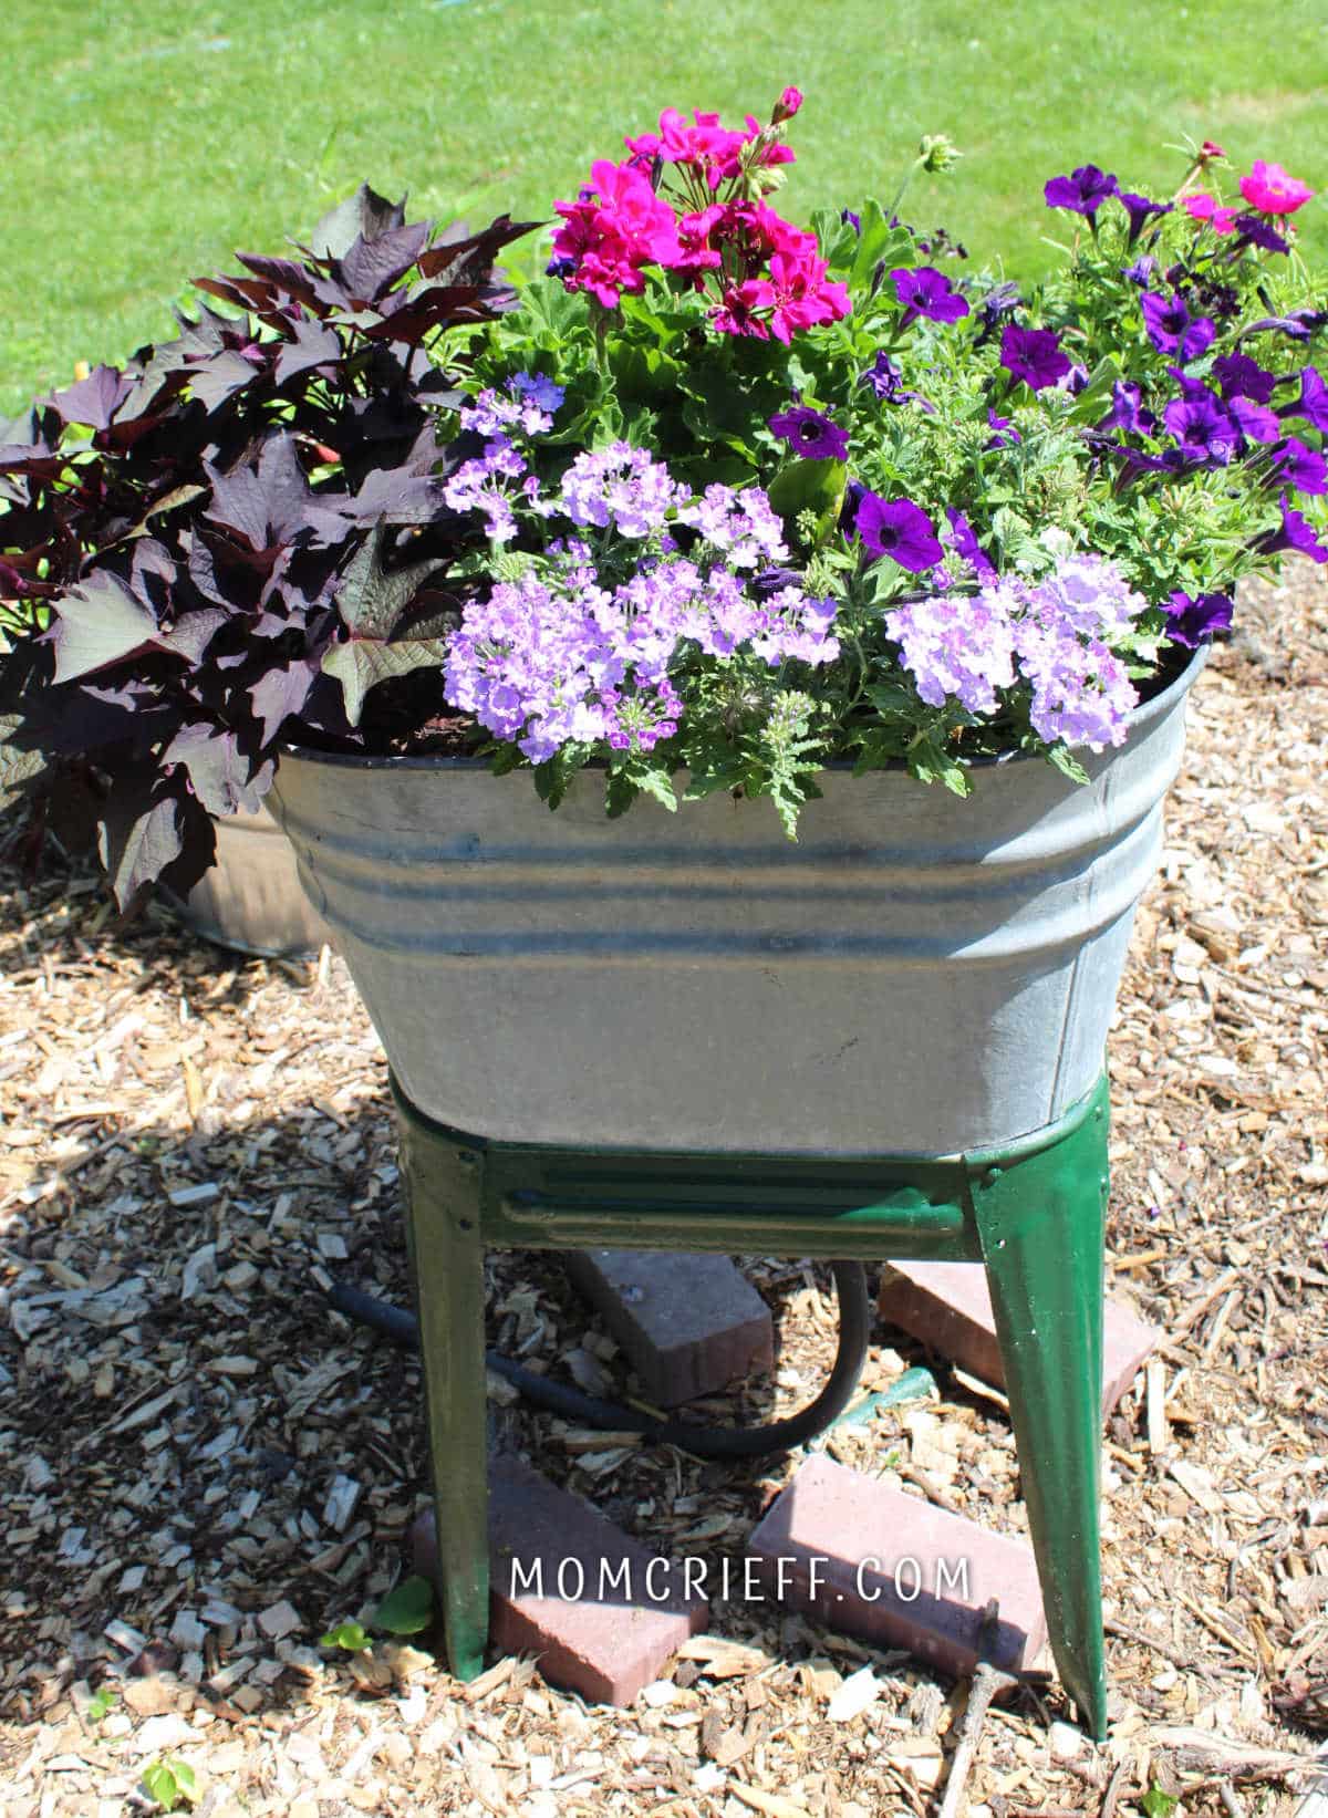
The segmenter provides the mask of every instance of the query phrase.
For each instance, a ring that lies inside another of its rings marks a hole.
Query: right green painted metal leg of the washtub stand
[[[1048,1634],[1106,1734],[1099,1553],[1106,1080],[1050,1149],[971,1182]]]

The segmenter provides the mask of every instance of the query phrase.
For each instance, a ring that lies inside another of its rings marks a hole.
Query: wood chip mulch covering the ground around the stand
[[[1112,1738],[1033,1683],[982,1723],[975,1818],[1292,1813],[1328,1729],[1328,576],[1241,620],[1110,1051],[1110,1282],[1166,1333],[1106,1434]],[[204,1818],[935,1811],[968,1687],[770,1607],[717,1602],[626,1711],[524,1658],[460,1687],[428,1645],[320,1645],[409,1573],[426,1505],[418,1367],[324,1302],[335,1274],[409,1298],[378,1044],[329,953],[240,958],[166,907],[118,929],[89,865],[31,874],[22,833],[0,820],[4,1818],[153,1811],[160,1760]],[[726,1422],[804,1402],[835,1347],[824,1269],[746,1267],[779,1356]],[[498,1349],[633,1387],[557,1258],[489,1271]],[[830,1453],[1026,1531],[999,1396],[884,1327],[866,1387],[917,1364],[935,1394]],[[502,1383],[493,1418],[717,1565],[800,1458],[606,1443]]]

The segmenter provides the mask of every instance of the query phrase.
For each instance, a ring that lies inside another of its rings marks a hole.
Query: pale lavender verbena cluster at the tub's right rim
[[[1039,582],[991,576],[977,594],[941,593],[893,607],[899,644],[921,700],[957,700],[990,714],[1001,693],[1026,684],[1030,722],[1048,744],[1102,751],[1126,736],[1139,694],[1112,651],[1148,611],[1112,562],[1070,554]]]

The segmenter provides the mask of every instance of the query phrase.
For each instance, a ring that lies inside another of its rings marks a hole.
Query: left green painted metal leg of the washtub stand
[[[448,1663],[458,1680],[473,1680],[489,1638],[480,1162],[413,1133],[404,1118],[400,1138],[429,1423],[437,1591]]]

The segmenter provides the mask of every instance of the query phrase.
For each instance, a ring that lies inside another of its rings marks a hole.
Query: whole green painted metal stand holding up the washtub
[[[1099,1567],[1106,1078],[1057,1124],[962,1156],[642,1154],[493,1144],[393,1082],[451,1671],[489,1625],[484,1245],[984,1262],[1061,1680],[1106,1733]]]

